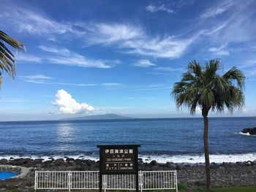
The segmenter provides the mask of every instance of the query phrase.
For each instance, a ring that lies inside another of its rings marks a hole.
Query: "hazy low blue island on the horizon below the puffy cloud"
[[[134,119],[134,118],[128,118],[121,115],[116,114],[105,114],[105,115],[86,115],[83,117],[78,118],[64,118],[61,120],[114,120],[114,119]]]

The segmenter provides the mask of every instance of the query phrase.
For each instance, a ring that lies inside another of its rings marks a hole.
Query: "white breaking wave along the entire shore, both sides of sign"
[[[36,156],[36,155],[2,155],[1,158],[42,158],[43,161],[48,161],[50,158],[67,158],[61,155],[51,155],[51,156]],[[99,161],[99,158],[91,155],[69,155],[69,158],[83,158],[91,159],[94,161]],[[151,162],[153,160],[158,163],[165,164],[166,162],[173,162],[177,164],[187,163],[187,164],[200,164],[205,162],[204,154],[200,155],[139,155],[139,158],[143,159],[143,162]],[[256,153],[244,153],[244,154],[214,154],[210,155],[211,163],[222,164],[225,163],[236,163],[238,161],[256,161]]]

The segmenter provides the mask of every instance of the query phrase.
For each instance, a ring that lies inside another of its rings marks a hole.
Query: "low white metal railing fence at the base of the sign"
[[[102,175],[102,190],[135,190],[134,174]],[[139,188],[143,190],[176,190],[178,191],[176,171],[139,172]],[[34,189],[99,189],[99,171],[52,172],[36,171]]]

